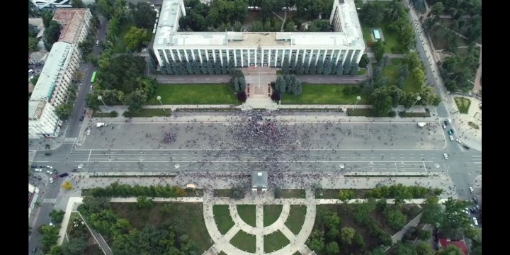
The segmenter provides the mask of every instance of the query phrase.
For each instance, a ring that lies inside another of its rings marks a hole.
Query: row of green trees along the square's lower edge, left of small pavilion
[[[89,193],[94,197],[157,197],[176,198],[186,196],[186,190],[179,186],[130,186],[129,184],[112,183],[105,188],[91,188]]]

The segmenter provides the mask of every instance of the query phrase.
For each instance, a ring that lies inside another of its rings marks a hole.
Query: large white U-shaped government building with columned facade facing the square
[[[335,0],[329,23],[335,32],[177,32],[186,16],[183,0],[164,0],[154,38],[160,66],[167,62],[220,62],[236,67],[281,67],[330,60],[335,64],[361,60],[363,33],[353,0]]]

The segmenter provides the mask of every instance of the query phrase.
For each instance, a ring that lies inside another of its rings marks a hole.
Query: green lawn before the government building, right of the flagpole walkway
[[[302,84],[302,94],[294,96],[285,94],[282,98],[284,104],[349,104],[356,103],[356,95],[344,94],[345,84]],[[367,104],[363,96],[358,104]]]

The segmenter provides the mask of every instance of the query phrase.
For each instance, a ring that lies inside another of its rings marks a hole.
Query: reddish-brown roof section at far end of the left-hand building
[[[87,10],[87,8],[59,8],[55,11],[53,20],[65,24],[60,31],[59,42],[77,43]]]

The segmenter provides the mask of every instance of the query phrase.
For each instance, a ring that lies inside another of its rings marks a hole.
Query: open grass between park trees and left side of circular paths
[[[171,212],[162,212],[162,205],[165,204],[171,205]],[[205,230],[207,228],[203,220],[202,203],[154,203],[154,207],[150,209],[138,209],[136,203],[111,203],[111,205],[120,217],[128,218],[137,229],[143,229],[148,223],[163,227],[172,222],[179,227],[181,234],[188,234],[203,251],[207,251],[212,245],[209,233]]]

